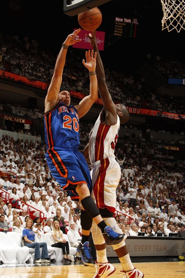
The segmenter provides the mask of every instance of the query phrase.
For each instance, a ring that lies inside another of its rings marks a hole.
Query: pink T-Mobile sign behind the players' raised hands
[[[75,30],[77,30],[77,28],[75,28],[74,31]],[[78,33],[78,36],[80,39],[82,39],[82,41],[75,43],[73,47],[92,49],[92,46],[90,45],[90,39],[86,37],[86,34],[89,35],[89,33],[91,32],[81,29],[81,31]],[[96,41],[97,41],[98,49],[104,50],[105,32],[96,31]]]

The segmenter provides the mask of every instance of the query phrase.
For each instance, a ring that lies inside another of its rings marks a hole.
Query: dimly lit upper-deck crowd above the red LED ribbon
[[[50,83],[55,62],[56,55],[48,50],[41,50],[34,39],[0,33],[0,70]],[[173,68],[173,63],[169,63]],[[175,69],[179,67],[176,66]],[[184,68],[181,67],[180,70],[184,72]],[[185,114],[184,98],[156,94],[146,86],[144,77],[136,78],[124,72],[110,71],[108,68],[105,74],[114,102],[122,102],[125,106]],[[89,94],[89,75],[78,60],[66,59],[62,82],[69,90]]]

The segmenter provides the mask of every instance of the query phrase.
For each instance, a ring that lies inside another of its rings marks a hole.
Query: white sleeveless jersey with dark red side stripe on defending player
[[[117,123],[115,125],[102,124],[100,122],[100,114],[89,134],[89,158],[90,163],[105,158],[114,158],[114,150],[118,140],[118,132],[120,128],[120,118],[117,115]]]

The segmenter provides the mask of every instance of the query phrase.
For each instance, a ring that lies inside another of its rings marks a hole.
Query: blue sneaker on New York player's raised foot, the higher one
[[[116,245],[120,243],[122,240],[127,238],[125,234],[118,234],[114,232],[115,227],[111,228],[109,226],[105,227],[105,232],[103,233],[103,237],[105,240],[106,245]]]

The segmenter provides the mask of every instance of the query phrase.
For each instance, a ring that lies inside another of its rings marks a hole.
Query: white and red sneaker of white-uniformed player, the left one
[[[116,268],[113,267],[113,265],[111,265],[111,263],[107,262],[107,263],[97,263],[97,261],[95,261],[96,265],[96,273],[95,276],[93,276],[93,278],[105,278],[110,276],[112,273],[114,273],[116,271]]]

